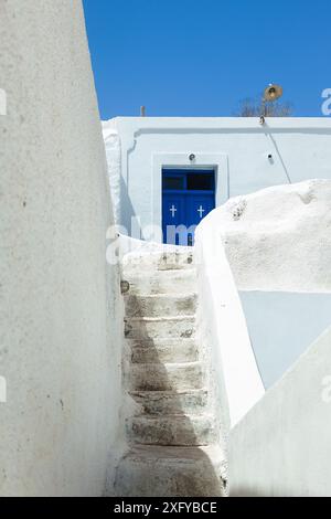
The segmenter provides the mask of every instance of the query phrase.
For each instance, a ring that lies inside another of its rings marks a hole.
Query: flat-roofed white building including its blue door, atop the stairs
[[[138,239],[162,241],[151,225],[190,227],[229,197],[331,178],[325,118],[118,117],[104,137],[116,221]]]

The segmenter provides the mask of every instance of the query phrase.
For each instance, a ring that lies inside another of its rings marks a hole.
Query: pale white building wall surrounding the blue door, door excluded
[[[261,127],[257,118],[118,117],[104,124],[109,128],[118,133],[121,146],[118,223],[129,230],[132,216],[140,219],[140,229],[160,225],[161,168],[190,166],[190,153],[195,153],[196,166],[216,167],[217,205],[289,179],[331,179],[327,118],[268,119]],[[118,174],[117,159],[110,157],[109,169]]]

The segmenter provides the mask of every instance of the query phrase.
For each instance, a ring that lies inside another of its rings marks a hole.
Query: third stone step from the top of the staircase
[[[196,295],[126,296],[127,317],[171,317],[195,315]]]

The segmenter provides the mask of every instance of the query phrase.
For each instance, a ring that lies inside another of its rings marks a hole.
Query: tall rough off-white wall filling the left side
[[[0,495],[100,496],[121,315],[81,1],[0,1]]]

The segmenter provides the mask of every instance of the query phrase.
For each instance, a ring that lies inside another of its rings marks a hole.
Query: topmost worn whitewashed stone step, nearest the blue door
[[[125,275],[149,271],[183,271],[194,266],[193,248],[178,247],[172,251],[158,251],[149,253],[128,254],[122,260],[122,272]]]

